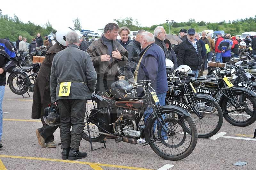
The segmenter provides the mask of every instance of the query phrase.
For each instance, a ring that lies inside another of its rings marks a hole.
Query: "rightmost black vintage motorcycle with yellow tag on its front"
[[[228,77],[232,77],[232,69],[217,69],[211,75],[192,81],[192,84],[199,87],[199,91],[206,88],[208,95],[219,101],[223,117],[230,124],[251,125],[256,120],[256,94],[245,87],[234,87]]]

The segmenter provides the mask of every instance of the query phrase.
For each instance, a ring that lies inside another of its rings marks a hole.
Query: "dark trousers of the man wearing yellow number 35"
[[[85,126],[84,116],[86,100],[61,99],[58,100],[60,111],[60,139],[61,148],[79,149]],[[72,130],[70,132],[70,128]]]

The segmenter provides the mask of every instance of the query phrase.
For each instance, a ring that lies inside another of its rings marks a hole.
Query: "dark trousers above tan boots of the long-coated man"
[[[41,119],[43,127],[39,128],[38,131],[40,135],[44,138],[45,143],[54,141],[53,133],[59,126],[49,126],[44,122],[44,118]]]

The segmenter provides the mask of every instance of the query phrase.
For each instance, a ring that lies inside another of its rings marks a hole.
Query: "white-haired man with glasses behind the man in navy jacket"
[[[157,26],[154,30],[155,43],[164,51],[165,58],[169,58],[164,40],[166,39],[166,32],[163,26]]]

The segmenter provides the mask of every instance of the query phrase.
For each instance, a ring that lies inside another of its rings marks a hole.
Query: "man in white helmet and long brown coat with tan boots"
[[[71,31],[70,28],[58,30],[56,33],[57,42],[46,52],[44,61],[38,72],[32,105],[32,119],[41,119],[43,123],[42,128],[36,129],[36,136],[38,143],[44,148],[55,148],[57,145],[54,142],[53,133],[58,126],[48,126],[43,119],[44,109],[51,103],[51,91],[50,91],[50,75],[52,68],[52,60],[55,54],[66,48],[65,36]]]

